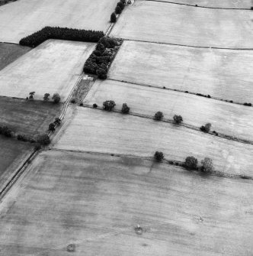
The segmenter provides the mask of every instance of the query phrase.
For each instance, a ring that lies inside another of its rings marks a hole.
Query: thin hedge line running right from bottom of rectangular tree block
[[[167,89],[168,91],[173,91],[173,92],[184,92],[184,93],[187,93],[187,94],[191,94],[191,95],[194,95],[194,96],[198,96],[198,97],[202,97],[202,98],[206,98],[206,99],[213,99],[213,100],[219,100],[221,102],[227,102],[229,104],[236,104],[236,105],[243,105],[245,107],[253,107],[253,105],[251,106],[246,106],[244,105],[244,103],[242,102],[235,102],[233,100],[229,100],[229,99],[222,99],[222,98],[219,98],[219,97],[215,97],[215,96],[204,96],[204,95],[198,95],[200,93],[197,93],[197,92],[189,92],[189,91],[185,91],[185,90],[181,90],[181,89],[172,89],[172,88],[168,88],[168,87],[165,87],[165,86],[152,86],[152,85],[149,85],[149,84],[145,84],[145,83],[136,83],[136,82],[127,82],[127,81],[124,81],[124,80],[119,80],[119,79],[113,79],[113,78],[108,78],[107,80],[111,80],[111,81],[116,81],[116,82],[120,82],[120,83],[127,83],[127,84],[134,84],[136,86],[146,86],[146,87],[150,87],[150,88],[155,88],[155,89]]]

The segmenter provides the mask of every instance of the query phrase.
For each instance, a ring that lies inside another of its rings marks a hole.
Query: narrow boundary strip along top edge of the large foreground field
[[[152,163],[157,164],[166,164],[166,165],[173,165],[175,167],[181,168],[183,170],[187,170],[184,167],[183,161],[178,160],[171,160],[164,158],[161,162],[157,162],[154,157],[142,157],[136,154],[116,154],[116,153],[110,153],[110,152],[98,152],[98,151],[82,151],[82,150],[69,150],[69,149],[60,149],[60,148],[52,148],[50,151],[59,151],[59,152],[72,152],[72,153],[83,153],[83,154],[93,154],[93,155],[100,155],[100,156],[111,156],[111,157],[129,157],[129,158],[136,158],[136,159],[142,159],[142,160],[148,160]],[[214,170],[211,173],[206,173],[199,170],[187,170],[187,172],[191,173],[201,173],[202,176],[214,176],[214,177],[222,177],[222,178],[229,178],[229,179],[242,179],[242,180],[253,180],[253,177],[244,175],[244,174],[232,174],[232,173],[225,173],[221,171]]]

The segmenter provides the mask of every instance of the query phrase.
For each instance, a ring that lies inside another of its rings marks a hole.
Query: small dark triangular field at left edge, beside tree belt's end
[[[0,70],[17,60],[30,50],[30,47],[23,47],[17,44],[0,43]]]

